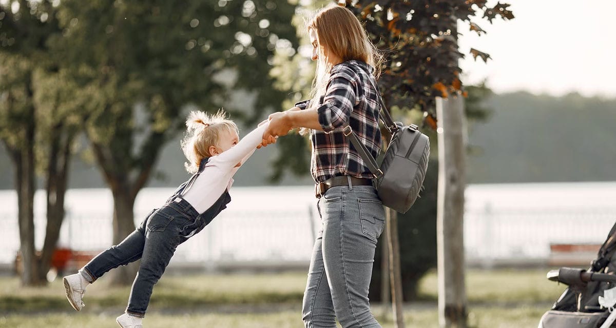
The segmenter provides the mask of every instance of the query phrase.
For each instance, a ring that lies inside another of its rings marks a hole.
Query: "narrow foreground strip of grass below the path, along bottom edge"
[[[299,306],[299,304],[298,304]],[[378,309],[377,309],[378,310]],[[541,314],[546,309],[531,306],[472,308],[469,313],[471,327],[521,328],[537,327]],[[282,310],[274,313],[152,313],[144,319],[148,328],[169,327],[222,327],[222,328],[302,328],[301,315],[297,310]],[[115,318],[119,312],[110,313],[52,313],[26,316],[8,314],[0,316],[0,327],[89,327],[116,328]],[[394,327],[390,320],[378,318],[384,328]],[[405,323],[408,328],[437,328],[436,308],[405,311]]]

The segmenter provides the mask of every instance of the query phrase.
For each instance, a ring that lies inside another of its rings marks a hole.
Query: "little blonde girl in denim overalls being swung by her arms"
[[[97,255],[79,273],[64,277],[73,308],[79,311],[84,306],[82,299],[88,284],[113,268],[141,259],[128,307],[116,322],[124,328],[142,328],[152,289],[177,246],[227,207],[232,177],[257,145],[275,142],[273,138],[262,140],[268,125],[265,122],[240,141],[237,126],[225,119],[224,112],[213,116],[201,111],[190,113],[182,150],[188,159],[186,169],[193,176],[163,206],[152,210],[124,241]]]

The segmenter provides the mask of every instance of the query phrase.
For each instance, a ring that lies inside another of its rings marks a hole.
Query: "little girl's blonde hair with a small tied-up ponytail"
[[[191,111],[186,119],[186,135],[182,140],[182,151],[188,162],[184,163],[186,170],[197,173],[202,159],[211,157],[210,146],[216,146],[222,131],[238,132],[237,125],[227,119],[227,113],[219,110],[208,115],[203,111]]]

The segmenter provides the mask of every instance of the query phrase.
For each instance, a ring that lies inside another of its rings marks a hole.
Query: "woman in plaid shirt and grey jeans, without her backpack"
[[[368,286],[384,210],[370,170],[344,135],[350,126],[376,158],[381,149],[374,67],[380,57],[352,12],[330,7],[307,26],[317,77],[312,100],[274,113],[263,135],[311,129],[311,172],[322,230],[315,241],[302,315],[306,327],[381,327],[370,313]]]

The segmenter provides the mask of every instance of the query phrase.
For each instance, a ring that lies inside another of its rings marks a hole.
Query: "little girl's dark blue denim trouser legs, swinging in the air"
[[[150,303],[152,289],[163,275],[179,244],[201,230],[205,222],[195,220],[199,214],[187,201],[175,198],[155,209],[124,241],[93,258],[79,273],[94,282],[107,271],[141,259],[132,284],[126,313],[143,317]]]

